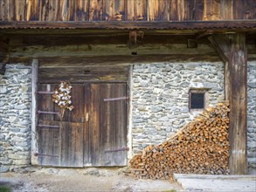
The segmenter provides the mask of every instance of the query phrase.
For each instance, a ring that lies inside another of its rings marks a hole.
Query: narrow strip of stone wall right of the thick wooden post
[[[256,61],[248,62],[247,156],[249,173],[256,174]]]

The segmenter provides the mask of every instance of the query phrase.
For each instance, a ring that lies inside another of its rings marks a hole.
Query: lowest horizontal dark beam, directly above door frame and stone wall
[[[40,69],[55,67],[93,67],[93,66],[124,66],[135,63],[152,63],[152,62],[178,62],[178,61],[219,61],[217,55],[137,55],[137,56],[100,56],[100,57],[49,57],[38,58]],[[13,59],[14,63],[18,60]]]

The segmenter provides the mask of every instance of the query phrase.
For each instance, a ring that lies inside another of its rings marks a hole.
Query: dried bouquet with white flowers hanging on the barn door
[[[63,117],[65,110],[72,111],[73,105],[71,100],[71,89],[72,86],[65,81],[59,84],[59,89],[57,89],[52,95],[52,101],[56,103],[61,108],[61,117]]]

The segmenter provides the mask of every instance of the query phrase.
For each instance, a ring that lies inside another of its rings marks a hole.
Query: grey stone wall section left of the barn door
[[[30,163],[31,66],[6,65],[0,75],[1,172]]]

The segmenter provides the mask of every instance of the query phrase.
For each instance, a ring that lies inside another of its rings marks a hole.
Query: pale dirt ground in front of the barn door
[[[26,171],[24,171],[26,172]],[[12,191],[183,191],[171,181],[135,180],[113,169],[41,168],[1,174],[0,185]],[[1,191],[0,188],[0,191]]]

